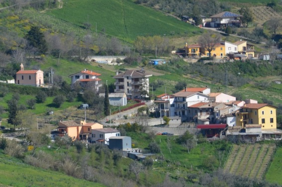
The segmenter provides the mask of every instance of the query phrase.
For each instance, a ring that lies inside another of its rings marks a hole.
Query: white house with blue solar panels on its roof
[[[233,22],[240,22],[240,20],[238,20],[239,17],[242,17],[242,15],[232,13],[229,11],[224,11],[224,12],[210,16],[211,18],[210,26],[211,27],[220,27],[220,25],[222,24],[227,26],[228,24],[232,24]]]

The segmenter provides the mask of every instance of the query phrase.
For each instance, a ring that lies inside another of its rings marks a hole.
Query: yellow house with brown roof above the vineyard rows
[[[249,103],[236,113],[236,126],[258,124],[262,130],[276,129],[276,107],[267,103]]]

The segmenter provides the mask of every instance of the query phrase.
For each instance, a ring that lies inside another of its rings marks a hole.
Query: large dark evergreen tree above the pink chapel
[[[47,52],[47,44],[43,33],[40,31],[39,27],[33,26],[25,35],[28,43],[38,49],[41,54]]]

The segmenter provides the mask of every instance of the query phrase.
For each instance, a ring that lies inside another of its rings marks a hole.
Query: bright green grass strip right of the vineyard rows
[[[279,147],[275,153],[274,159],[270,165],[270,168],[267,171],[267,174],[265,176],[265,179],[271,183],[277,183],[279,185],[282,185],[282,148]]]

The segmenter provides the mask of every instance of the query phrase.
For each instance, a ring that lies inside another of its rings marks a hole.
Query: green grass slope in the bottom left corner
[[[2,154],[2,153],[0,153]],[[104,187],[59,172],[35,168],[6,155],[0,159],[0,186],[12,187]]]

